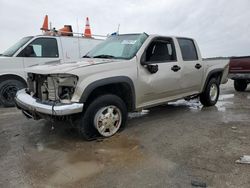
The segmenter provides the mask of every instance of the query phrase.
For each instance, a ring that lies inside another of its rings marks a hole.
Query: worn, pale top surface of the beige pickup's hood
[[[52,61],[43,65],[31,66],[25,69],[25,72],[32,72],[36,74],[61,74],[69,73],[74,69],[82,67],[97,66],[100,64],[118,62],[113,59],[90,59],[84,58],[82,61],[75,61],[70,63],[60,63],[60,61]]]

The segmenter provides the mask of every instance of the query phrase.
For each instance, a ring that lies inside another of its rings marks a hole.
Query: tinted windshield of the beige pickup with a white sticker
[[[135,56],[147,37],[148,35],[145,33],[111,36],[84,57],[131,59]]]

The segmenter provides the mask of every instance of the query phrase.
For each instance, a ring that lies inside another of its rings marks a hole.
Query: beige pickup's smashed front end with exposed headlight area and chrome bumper
[[[17,92],[15,102],[27,117],[62,119],[82,112],[83,103],[72,102],[78,77],[71,74],[28,73],[28,88]]]

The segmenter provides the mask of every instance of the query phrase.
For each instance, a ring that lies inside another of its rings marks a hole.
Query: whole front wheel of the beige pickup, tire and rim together
[[[80,133],[87,140],[111,137],[124,128],[126,121],[127,107],[123,100],[106,94],[89,104],[80,123]]]

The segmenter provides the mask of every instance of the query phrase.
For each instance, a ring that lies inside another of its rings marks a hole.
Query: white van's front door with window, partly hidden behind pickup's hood
[[[59,50],[55,38],[41,37],[30,42],[18,55],[23,57],[24,67],[59,61]]]

